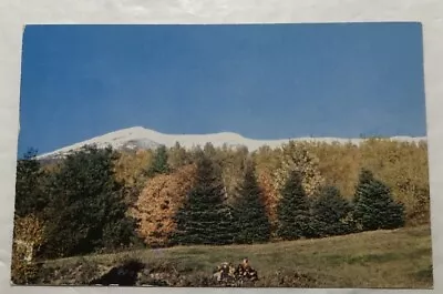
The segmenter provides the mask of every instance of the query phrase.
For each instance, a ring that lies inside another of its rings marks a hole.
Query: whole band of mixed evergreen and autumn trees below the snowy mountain
[[[136,249],[261,244],[430,223],[427,144],[84,146],[17,163],[12,281],[38,262]],[[23,262],[25,260],[27,262]]]

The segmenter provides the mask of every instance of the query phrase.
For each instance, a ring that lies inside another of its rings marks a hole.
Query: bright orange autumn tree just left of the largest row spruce
[[[194,185],[196,166],[185,165],[169,174],[158,174],[147,181],[134,207],[138,219],[137,233],[150,246],[165,246],[175,230],[174,215]]]

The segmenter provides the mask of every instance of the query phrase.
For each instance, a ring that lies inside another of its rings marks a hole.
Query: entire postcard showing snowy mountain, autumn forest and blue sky
[[[24,28],[11,283],[432,288],[419,22]]]

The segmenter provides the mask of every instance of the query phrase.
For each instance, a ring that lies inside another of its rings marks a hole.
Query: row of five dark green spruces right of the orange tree
[[[164,156],[162,154],[162,156]],[[166,162],[166,161],[164,161]],[[224,185],[214,162],[202,152],[196,186],[176,215],[173,244],[230,244],[267,242],[267,217],[254,163],[247,161],[234,205],[225,202]],[[291,171],[281,190],[277,237],[296,240],[342,235],[404,225],[404,209],[387,185],[362,170],[354,201],[348,202],[334,186],[308,197],[300,173]]]

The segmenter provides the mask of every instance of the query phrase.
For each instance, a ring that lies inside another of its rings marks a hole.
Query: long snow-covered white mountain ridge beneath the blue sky
[[[411,136],[393,136],[391,140],[419,142],[426,140],[426,138],[411,138]],[[237,133],[222,132],[213,134],[164,134],[142,126],[123,129],[120,131],[111,132],[101,136],[95,136],[90,140],[79,142],[76,144],[55,150],[39,156],[39,159],[56,159],[79,150],[80,148],[89,144],[95,144],[97,148],[106,148],[111,145],[113,149],[122,150],[137,150],[137,149],[155,149],[159,145],[173,146],[178,142],[184,148],[192,148],[195,145],[205,145],[210,142],[214,146],[228,146],[245,145],[249,151],[257,150],[262,145],[276,148],[282,143],[293,141],[311,141],[311,142],[338,142],[338,143],[353,143],[359,144],[364,139],[340,139],[340,138],[293,138],[281,140],[253,140],[244,138]]]

